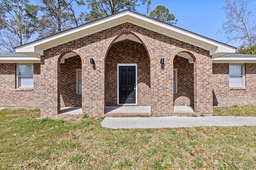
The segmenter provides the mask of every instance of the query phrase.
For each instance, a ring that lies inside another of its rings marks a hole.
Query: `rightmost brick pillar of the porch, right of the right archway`
[[[199,55],[194,62],[194,111],[212,115],[212,58]]]

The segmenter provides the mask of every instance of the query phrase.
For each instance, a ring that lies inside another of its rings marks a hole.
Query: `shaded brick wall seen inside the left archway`
[[[76,69],[81,68],[78,55],[60,64],[60,106],[82,106],[82,95],[76,94]]]

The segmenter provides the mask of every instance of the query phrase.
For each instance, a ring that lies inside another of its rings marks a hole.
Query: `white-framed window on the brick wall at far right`
[[[229,65],[229,86],[244,87],[244,65],[243,64]]]

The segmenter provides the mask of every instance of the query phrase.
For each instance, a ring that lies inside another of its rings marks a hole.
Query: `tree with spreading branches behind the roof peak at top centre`
[[[87,5],[89,13],[84,13],[84,21],[90,22],[100,18],[116,14],[124,9],[135,11],[139,2],[145,3],[145,0],[84,0],[77,1],[78,5]]]

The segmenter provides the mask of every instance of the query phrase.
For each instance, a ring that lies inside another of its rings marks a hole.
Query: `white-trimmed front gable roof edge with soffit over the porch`
[[[49,37],[45,37],[43,39],[39,39],[31,43],[22,45],[20,47],[16,47],[15,51],[16,53],[22,53],[32,57],[40,58],[40,55],[43,55],[43,51],[46,49],[91,35],[93,33],[126,22],[138,25],[140,27],[144,27],[146,29],[166,35],[168,37],[172,37],[174,39],[178,39],[191,45],[195,45],[202,49],[206,49],[210,51],[210,55],[212,55],[213,58],[236,52],[236,48],[230,45],[220,43],[213,39],[209,39],[202,35],[192,33],[185,29],[181,29],[179,27],[169,25],[158,20],[154,20],[152,18],[143,16],[130,10],[124,10],[117,14],[107,16],[105,18],[92,21],[78,27],[74,27],[72,29],[57,33],[55,35],[51,35]]]

